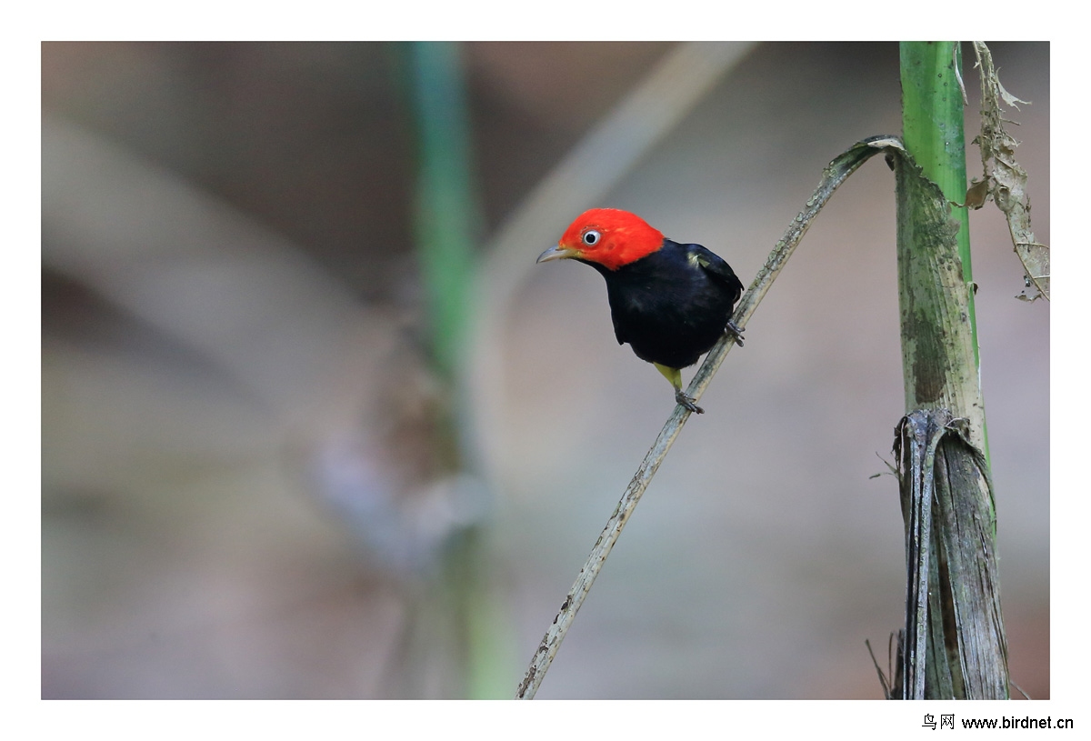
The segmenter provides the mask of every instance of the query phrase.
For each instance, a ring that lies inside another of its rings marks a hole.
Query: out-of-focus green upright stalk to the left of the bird
[[[447,474],[466,480],[475,467],[476,443],[463,423],[466,404],[467,337],[472,316],[480,241],[480,210],[472,174],[472,144],[460,46],[409,46],[411,89],[418,138],[415,230],[428,302],[429,349],[445,387],[437,413],[439,447]],[[480,476],[472,477],[480,487]],[[454,535],[445,552],[443,583],[423,609],[434,609],[454,636],[457,686],[469,698],[501,697],[513,666],[511,629],[491,591],[488,534],[471,524]]]

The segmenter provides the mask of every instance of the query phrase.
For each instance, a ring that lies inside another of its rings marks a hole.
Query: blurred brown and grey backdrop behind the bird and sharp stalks
[[[991,48],[1050,243],[1050,47]],[[48,43],[41,79],[44,697],[512,696],[673,409],[595,271],[537,255],[609,205],[748,285],[901,128],[896,44]],[[876,159],[539,697],[882,697],[894,219]],[[1045,698],[1050,306],[995,206],[970,228],[1011,677]]]

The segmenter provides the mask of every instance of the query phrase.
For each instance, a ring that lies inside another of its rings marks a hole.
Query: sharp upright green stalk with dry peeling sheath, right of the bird
[[[901,45],[909,156],[892,158],[906,417],[899,474],[908,596],[896,693],[1006,698],[996,513],[964,207],[960,56]]]

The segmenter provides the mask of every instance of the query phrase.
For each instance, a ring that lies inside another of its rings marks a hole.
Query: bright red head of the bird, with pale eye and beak
[[[663,235],[643,218],[618,208],[591,208],[565,230],[538,262],[575,258],[615,271],[663,246]]]

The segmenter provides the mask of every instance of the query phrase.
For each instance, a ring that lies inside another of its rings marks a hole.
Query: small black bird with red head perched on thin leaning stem
[[[652,363],[674,386],[674,401],[704,414],[682,390],[688,368],[730,333],[742,346],[743,330],[731,313],[743,284],[731,266],[700,244],[668,239],[636,214],[591,208],[537,262],[575,260],[607,282],[607,298],[619,345]]]

